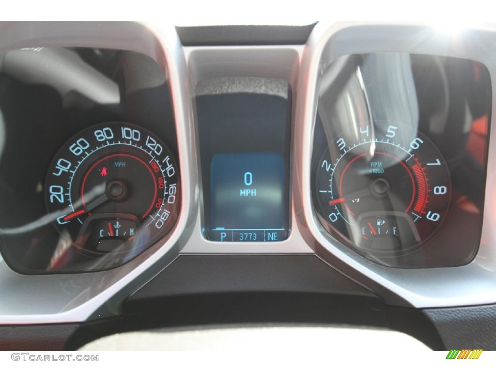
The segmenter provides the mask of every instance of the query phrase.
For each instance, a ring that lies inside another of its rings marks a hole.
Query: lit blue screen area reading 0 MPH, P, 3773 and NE
[[[286,166],[278,153],[216,154],[210,164],[210,240],[273,242],[288,232]]]

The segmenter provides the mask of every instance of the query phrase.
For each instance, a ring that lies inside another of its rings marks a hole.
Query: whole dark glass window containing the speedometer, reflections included
[[[110,269],[141,252],[123,272],[143,262],[166,242],[182,200],[167,74],[119,49],[6,53],[0,261],[35,275]]]

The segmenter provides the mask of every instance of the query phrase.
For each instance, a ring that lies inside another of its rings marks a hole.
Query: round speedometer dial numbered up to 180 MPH
[[[65,237],[49,269],[109,254],[122,262],[149,248],[176,223],[179,183],[172,153],[147,130],[108,123],[79,132],[46,180],[47,207]]]

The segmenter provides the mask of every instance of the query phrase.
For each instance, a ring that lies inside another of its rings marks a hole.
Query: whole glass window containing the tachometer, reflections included
[[[372,53],[330,63],[311,159],[314,216],[330,244],[393,267],[469,263],[481,240],[490,92],[474,61]]]

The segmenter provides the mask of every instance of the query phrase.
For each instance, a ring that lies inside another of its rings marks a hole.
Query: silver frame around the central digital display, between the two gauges
[[[299,61],[303,52],[302,46],[270,46],[270,47],[186,47],[186,61],[189,67],[192,89],[197,83],[210,79],[232,78],[249,84],[249,78],[284,79],[292,89],[292,123],[291,133],[294,132],[294,113],[296,106]],[[201,92],[200,92],[201,93]],[[194,104],[194,95],[191,97]],[[197,121],[196,121],[197,123]],[[291,138],[291,144],[294,138]],[[198,150],[197,150],[198,151]],[[293,159],[292,148],[290,159]],[[200,161],[200,159],[198,159]],[[293,161],[290,161],[290,179],[293,173]],[[200,168],[200,167],[198,167]],[[199,170],[198,170],[199,172]],[[199,180],[201,175],[198,174]],[[203,202],[200,181],[200,203],[196,226],[191,238],[181,251],[181,254],[312,254],[296,225],[296,213],[292,199],[292,180],[290,180],[290,229],[288,239],[270,243],[242,242],[213,242],[204,238],[201,233],[203,224]]]

